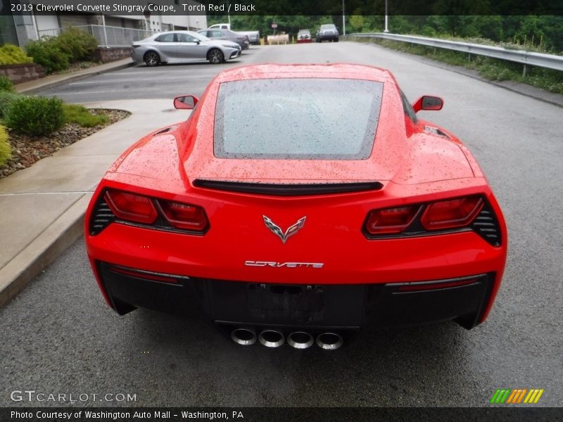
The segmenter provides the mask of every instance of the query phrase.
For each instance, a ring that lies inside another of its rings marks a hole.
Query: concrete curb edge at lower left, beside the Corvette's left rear
[[[0,269],[0,307],[49,267],[83,234],[84,214],[92,193],[84,194],[53,224],[39,234],[18,256]]]

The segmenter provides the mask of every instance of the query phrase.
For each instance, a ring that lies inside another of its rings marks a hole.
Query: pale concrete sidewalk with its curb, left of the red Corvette
[[[0,306],[82,236],[84,212],[110,164],[142,136],[189,115],[175,110],[171,99],[85,106],[132,115],[0,179]]]

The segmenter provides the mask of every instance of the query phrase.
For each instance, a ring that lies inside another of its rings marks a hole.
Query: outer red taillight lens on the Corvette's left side
[[[158,216],[153,201],[146,198],[146,196],[109,190],[104,198],[118,219],[153,224]]]

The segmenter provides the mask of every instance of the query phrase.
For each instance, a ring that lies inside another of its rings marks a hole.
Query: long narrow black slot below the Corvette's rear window
[[[379,191],[383,184],[379,181],[368,181],[360,183],[337,183],[337,184],[263,184],[246,183],[239,181],[221,180],[194,180],[194,186],[198,188],[215,189],[217,191],[255,193],[270,196],[306,196],[306,195],[331,195],[335,193],[351,193],[362,191]]]

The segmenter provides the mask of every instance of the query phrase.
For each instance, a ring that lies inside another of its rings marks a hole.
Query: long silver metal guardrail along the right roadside
[[[524,65],[524,75],[526,74],[526,65],[563,71],[563,56],[555,56],[554,54],[533,53],[531,51],[510,50],[502,47],[485,46],[468,42],[414,37],[412,35],[387,34],[384,32],[348,34],[347,37],[392,39],[393,41],[410,42],[412,44],[434,47],[436,49],[448,49],[475,54],[477,56],[500,58]]]

